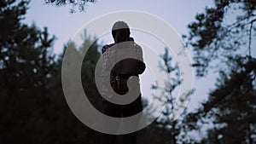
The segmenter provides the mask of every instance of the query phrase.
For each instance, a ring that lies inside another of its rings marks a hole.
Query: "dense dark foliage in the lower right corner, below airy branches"
[[[254,143],[256,135],[256,60],[237,61],[230,75],[220,72],[217,89],[212,90],[202,109],[193,115],[198,119],[213,118],[206,143]],[[195,129],[195,128],[192,128]],[[236,136],[234,136],[236,135]]]

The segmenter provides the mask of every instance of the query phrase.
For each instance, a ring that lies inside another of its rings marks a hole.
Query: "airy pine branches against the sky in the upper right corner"
[[[213,63],[219,66],[236,55],[252,56],[251,42],[256,30],[255,0],[215,0],[214,3],[189,24],[187,42],[195,52],[193,66],[200,77],[206,75]]]

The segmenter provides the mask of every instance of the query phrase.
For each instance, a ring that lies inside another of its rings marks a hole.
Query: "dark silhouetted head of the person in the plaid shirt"
[[[114,43],[121,43],[129,40],[130,28],[124,21],[117,21],[112,27]]]

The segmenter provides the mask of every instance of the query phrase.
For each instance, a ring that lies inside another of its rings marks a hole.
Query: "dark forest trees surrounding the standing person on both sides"
[[[45,2],[58,6],[76,4],[80,11],[85,9],[85,3],[94,3]],[[182,80],[170,77],[166,87],[172,89],[163,91],[166,109],[152,124],[139,131],[137,143],[256,143],[256,55],[253,53],[256,1],[213,2],[212,8],[195,15],[195,20],[188,25],[189,34],[183,38],[194,52],[196,77],[207,78],[209,71],[218,72],[216,86],[209,91],[207,101],[195,111],[185,110],[180,118],[171,121],[173,91]],[[82,124],[67,106],[61,87],[61,61],[67,47],[82,54],[85,45],[93,43],[84,58],[81,79],[88,99],[101,110],[102,100],[95,90],[94,71],[86,71],[95,69],[101,44],[84,30],[82,45],[69,41],[61,54],[55,54],[56,36],[50,35],[47,27],[29,26],[22,21],[26,19],[28,6],[27,0],[0,2],[0,143],[100,143],[102,133]],[[236,17],[229,18],[231,14]],[[160,57],[164,61],[160,67],[166,67],[161,71],[177,75],[178,67],[173,65],[167,49]],[[159,88],[153,86],[152,89]],[[143,104],[147,105],[147,100]],[[201,139],[193,135],[207,124],[212,126]]]

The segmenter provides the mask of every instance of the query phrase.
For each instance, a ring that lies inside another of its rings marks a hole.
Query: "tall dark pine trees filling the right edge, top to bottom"
[[[256,142],[255,9],[256,1],[216,0],[189,24],[197,76],[207,76],[212,66],[219,73],[208,100],[185,120],[190,130],[212,121],[201,143]]]

